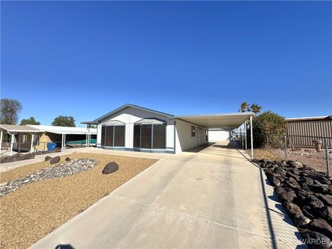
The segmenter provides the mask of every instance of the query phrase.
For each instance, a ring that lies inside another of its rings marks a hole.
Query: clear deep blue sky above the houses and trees
[[[332,113],[331,1],[1,1],[1,98],[20,118]]]

